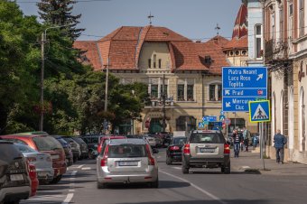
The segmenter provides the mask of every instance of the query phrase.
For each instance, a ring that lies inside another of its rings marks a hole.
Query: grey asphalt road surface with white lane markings
[[[42,185],[35,197],[23,204],[238,204],[307,203],[307,176],[264,175],[220,169],[191,169],[182,174],[181,164],[166,165],[165,149],[155,154],[159,162],[159,189],[145,184],[96,187],[96,160],[70,166],[57,185]],[[236,159],[232,158],[232,163]]]

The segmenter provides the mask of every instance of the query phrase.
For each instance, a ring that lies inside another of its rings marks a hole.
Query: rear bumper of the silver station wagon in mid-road
[[[148,172],[108,172],[105,167],[100,168],[99,170],[99,183],[153,182],[158,179],[157,168],[151,168]]]

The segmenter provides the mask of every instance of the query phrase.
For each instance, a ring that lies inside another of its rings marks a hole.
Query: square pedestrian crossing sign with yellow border
[[[251,123],[271,121],[270,101],[249,101],[249,119]]]

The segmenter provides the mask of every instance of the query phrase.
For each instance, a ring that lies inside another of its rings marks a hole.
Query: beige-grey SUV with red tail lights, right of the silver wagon
[[[217,130],[194,130],[182,153],[182,172],[190,168],[220,168],[230,173],[230,148],[224,135]]]

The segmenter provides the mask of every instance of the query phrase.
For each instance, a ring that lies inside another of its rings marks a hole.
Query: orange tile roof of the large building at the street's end
[[[220,74],[222,66],[228,66],[226,57],[221,51],[228,40],[216,36],[209,42],[192,42],[186,37],[164,27],[123,26],[100,39],[96,44],[76,42],[75,47],[87,49],[86,56],[90,59],[94,70],[101,70],[107,65],[111,70],[137,70],[138,59],[144,42],[165,42],[168,44],[172,71],[175,70],[209,70],[212,74]],[[95,53],[95,54],[94,54]],[[100,54],[100,58],[99,58]],[[212,63],[204,63],[204,56],[210,55]],[[92,59],[94,58],[94,59]],[[99,63],[98,63],[99,62]]]

